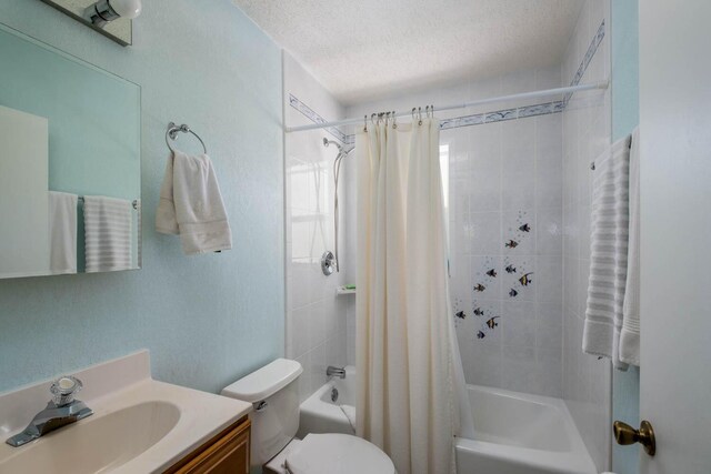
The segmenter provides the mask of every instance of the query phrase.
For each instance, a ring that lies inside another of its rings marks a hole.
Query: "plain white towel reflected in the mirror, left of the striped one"
[[[49,192],[49,270],[77,273],[77,194]]]

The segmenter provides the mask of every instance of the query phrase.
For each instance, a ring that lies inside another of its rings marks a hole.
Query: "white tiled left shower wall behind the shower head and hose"
[[[327,120],[343,109],[299,63],[284,52],[287,125],[312,121],[290,105],[299,98]],[[333,251],[333,160],[336,147],[323,147],[323,130],[286,135],[287,357],[303,366],[299,396],[306,400],[326,382],[328,365],[346,364],[346,311],[352,296],[337,296],[344,273],[321,272],[321,255]],[[341,240],[343,242],[343,240]],[[341,243],[343,245],[343,243]]]

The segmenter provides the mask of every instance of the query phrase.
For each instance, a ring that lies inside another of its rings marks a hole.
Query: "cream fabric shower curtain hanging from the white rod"
[[[357,432],[400,474],[453,473],[454,435],[473,433],[449,301],[439,121],[378,123],[357,133],[356,153]]]

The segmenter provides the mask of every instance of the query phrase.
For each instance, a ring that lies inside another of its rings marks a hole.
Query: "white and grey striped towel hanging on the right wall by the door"
[[[590,238],[590,280],[582,349],[620,361],[622,304],[627,283],[629,233],[630,137],[617,141],[610,152],[595,160],[592,185],[592,234]]]

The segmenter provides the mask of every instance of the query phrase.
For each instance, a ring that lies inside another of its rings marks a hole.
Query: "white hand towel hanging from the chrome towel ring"
[[[207,154],[191,157],[176,152],[168,159],[156,230],[180,234],[188,255],[232,248],[222,194]]]

